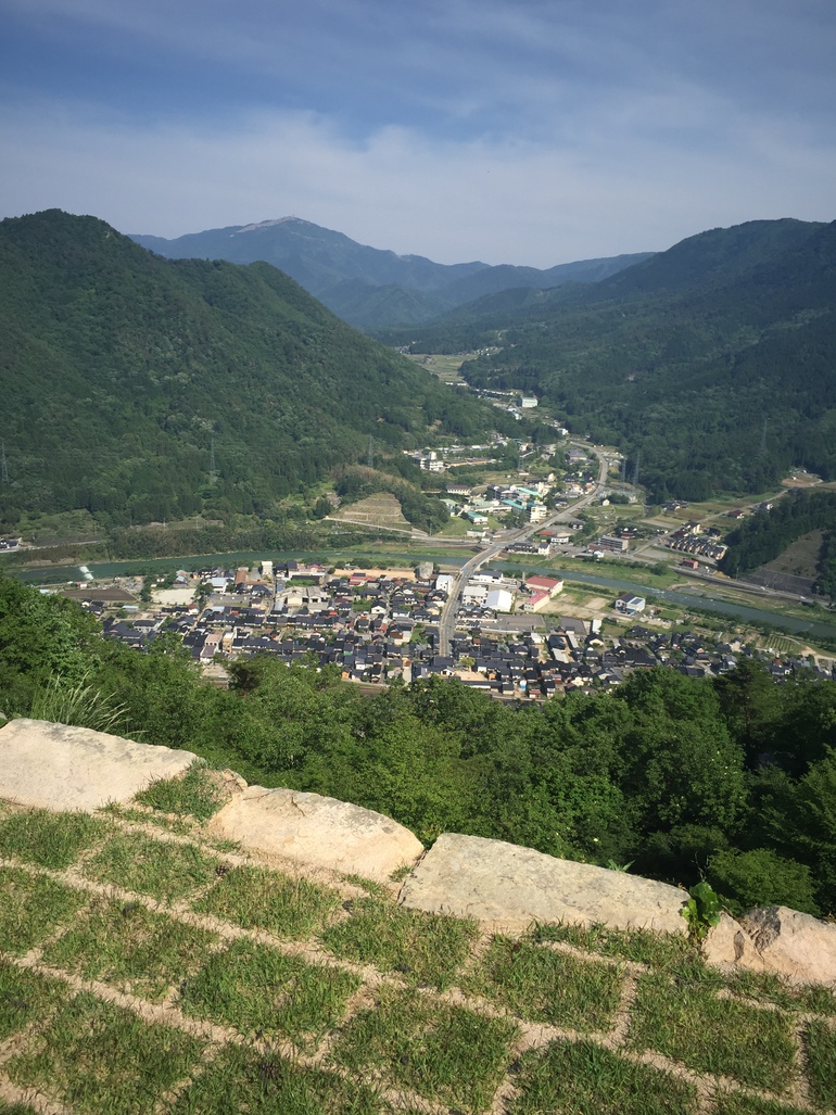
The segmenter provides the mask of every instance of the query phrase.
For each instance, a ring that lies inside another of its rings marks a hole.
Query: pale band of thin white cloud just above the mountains
[[[755,217],[829,220],[836,154],[738,122],[739,149],[688,152],[602,132],[583,151],[525,140],[443,144],[415,129],[347,142],[309,113],[234,129],[139,128],[80,105],[7,113],[7,213],[58,206],[175,236],[293,213],[439,262],[548,266],[657,250]],[[618,132],[619,122],[615,129]],[[729,145],[733,146],[733,145]]]

